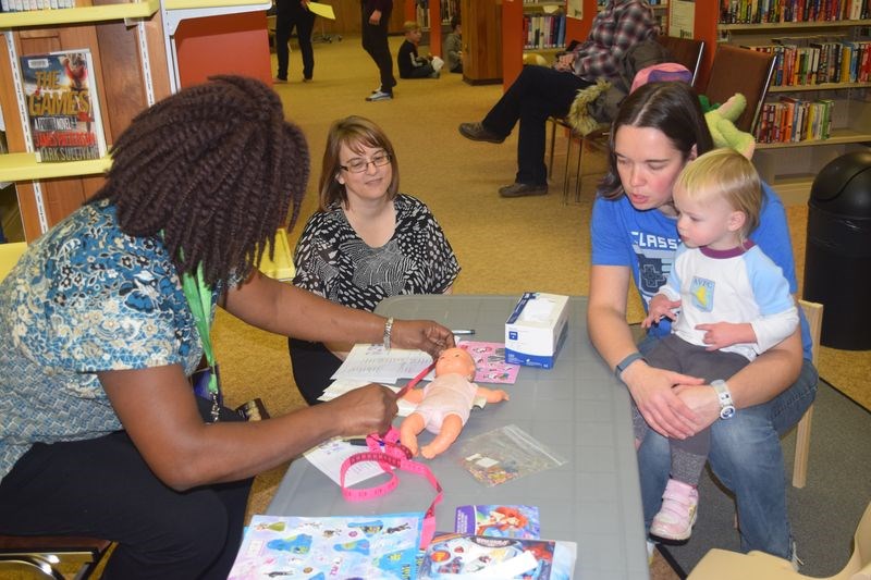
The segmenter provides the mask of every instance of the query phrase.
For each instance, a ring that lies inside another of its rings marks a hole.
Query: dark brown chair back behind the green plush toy
[[[744,95],[747,107],[735,121],[735,126],[747,133],[753,133],[773,73],[773,53],[733,45],[719,45],[711,63],[708,86],[701,94],[711,102],[725,102],[736,92]]]

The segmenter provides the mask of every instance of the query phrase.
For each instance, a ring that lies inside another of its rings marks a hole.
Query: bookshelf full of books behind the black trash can
[[[871,20],[719,22],[716,33],[720,41],[777,53],[753,163],[785,202],[807,202],[813,178],[825,164],[871,144],[871,76],[861,76],[858,60],[863,52],[871,60]],[[855,51],[858,59],[850,77],[849,66],[835,65],[841,55]],[[829,59],[836,60],[824,66]],[[827,135],[820,123],[825,118],[831,119]]]

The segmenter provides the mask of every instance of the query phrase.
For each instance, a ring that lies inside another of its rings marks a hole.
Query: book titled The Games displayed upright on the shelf
[[[103,157],[106,137],[90,51],[24,55],[21,72],[36,160]]]

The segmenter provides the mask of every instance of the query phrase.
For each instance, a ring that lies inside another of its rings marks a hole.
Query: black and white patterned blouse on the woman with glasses
[[[334,303],[372,311],[400,294],[441,294],[459,264],[429,208],[412,196],[393,200],[396,229],[380,248],[368,246],[339,203],[315,213],[294,252],[294,285]]]

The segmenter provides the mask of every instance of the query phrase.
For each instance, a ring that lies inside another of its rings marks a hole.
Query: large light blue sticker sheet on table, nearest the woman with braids
[[[417,578],[424,514],[254,516],[229,580]]]

